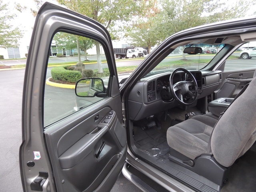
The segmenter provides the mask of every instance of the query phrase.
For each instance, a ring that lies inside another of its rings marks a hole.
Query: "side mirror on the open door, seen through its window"
[[[75,92],[79,97],[94,97],[104,91],[104,83],[100,78],[84,78],[76,82]]]

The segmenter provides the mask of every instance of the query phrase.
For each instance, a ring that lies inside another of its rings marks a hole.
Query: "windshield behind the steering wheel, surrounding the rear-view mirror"
[[[187,44],[180,46],[164,58],[151,72],[174,70],[176,68],[200,70],[214,58],[223,46],[224,44]],[[196,55],[185,54],[183,50],[186,47],[201,47],[202,53]]]

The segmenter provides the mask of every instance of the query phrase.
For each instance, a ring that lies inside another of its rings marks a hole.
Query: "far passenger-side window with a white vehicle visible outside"
[[[226,60],[224,71],[256,68],[256,42],[240,46]]]

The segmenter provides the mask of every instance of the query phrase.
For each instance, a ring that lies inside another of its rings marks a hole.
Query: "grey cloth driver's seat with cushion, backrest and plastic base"
[[[198,115],[168,128],[169,159],[222,186],[228,167],[256,140],[255,99],[256,72],[219,120]],[[218,168],[214,176],[209,176],[209,171]]]

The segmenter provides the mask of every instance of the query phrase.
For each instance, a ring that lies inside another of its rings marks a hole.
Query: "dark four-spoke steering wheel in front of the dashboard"
[[[183,71],[185,72],[185,80],[173,84],[173,78],[176,72]],[[192,81],[188,81],[188,77]],[[194,93],[192,93],[189,88],[194,88]],[[198,96],[198,86],[194,76],[184,68],[178,68],[174,70],[170,76],[170,92],[175,100],[182,105],[191,105],[193,104]]]

